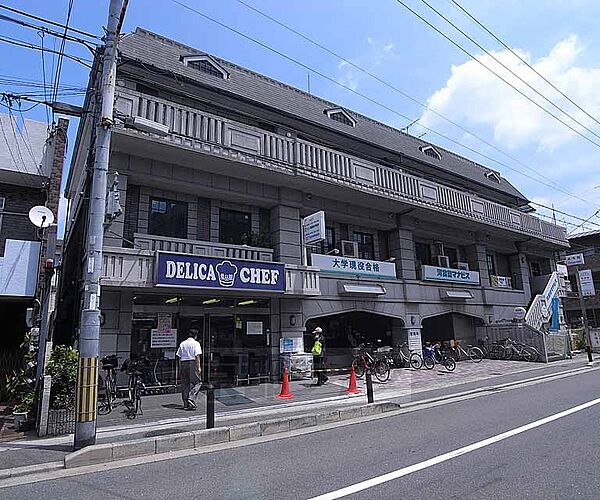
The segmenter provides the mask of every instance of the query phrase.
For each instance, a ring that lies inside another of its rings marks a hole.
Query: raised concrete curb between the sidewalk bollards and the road
[[[146,455],[197,449],[203,446],[240,441],[244,439],[270,436],[283,432],[317,427],[323,424],[352,420],[400,409],[400,404],[392,402],[372,403],[363,406],[329,410],[321,413],[265,420],[247,424],[216,427],[188,432],[178,432],[166,436],[134,439],[117,443],[87,446],[69,453],[64,462],[57,462],[54,468],[71,469]],[[35,466],[33,466],[35,467]],[[31,472],[40,472],[33,470]],[[5,477],[0,479],[6,479]]]

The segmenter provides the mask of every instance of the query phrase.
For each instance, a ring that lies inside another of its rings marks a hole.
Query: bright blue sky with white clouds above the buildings
[[[130,0],[124,32],[144,27],[303,90],[310,80],[313,94],[400,129],[418,120],[409,127],[409,133],[425,134],[424,140],[498,171],[535,203],[554,205],[554,214],[534,205],[538,215],[555,216],[570,232],[600,229],[600,211],[596,213],[600,210],[600,2],[456,0],[509,51],[452,0],[426,1],[479,46],[423,0]],[[296,59],[304,67],[178,2]],[[102,35],[108,3],[74,0],[70,25]],[[69,0],[8,0],[4,4],[64,23]],[[7,11],[0,10],[0,14],[24,19]],[[2,19],[0,37],[38,46],[41,43],[36,30]],[[60,42],[50,35],[44,36],[44,45],[60,48]],[[66,53],[91,59],[89,50],[75,42],[66,44]],[[56,58],[52,54],[45,55],[43,67],[40,51],[0,41],[0,81],[4,82],[0,92],[31,91],[6,81],[42,82],[44,73],[50,86],[56,73],[53,65]],[[60,100],[81,104],[82,95],[68,94],[84,88],[88,74],[84,65],[65,59],[60,75],[65,87]],[[22,103],[22,109],[29,107]],[[47,119],[42,105],[23,115]],[[77,120],[73,119],[70,145],[74,144],[76,128]],[[582,221],[575,217],[589,222],[578,227]]]

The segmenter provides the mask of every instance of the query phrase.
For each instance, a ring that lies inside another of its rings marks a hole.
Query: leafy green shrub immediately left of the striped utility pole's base
[[[56,346],[48,362],[48,375],[52,376],[50,408],[60,410],[75,407],[75,384],[79,353],[67,346]]]

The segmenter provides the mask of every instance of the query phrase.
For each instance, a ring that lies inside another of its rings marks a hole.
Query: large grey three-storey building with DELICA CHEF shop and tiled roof
[[[360,338],[474,342],[530,304],[530,326],[547,320],[536,294],[558,293],[565,228],[529,213],[498,172],[143,29],[119,60],[109,186],[118,172],[124,213],[104,235],[102,354],[148,355],[160,374],[194,327],[211,378],[236,383],[276,374],[317,325],[329,362],[347,367]],[[72,338],[85,116],[66,188],[60,324]],[[321,210],[325,239],[305,262],[301,220]]]

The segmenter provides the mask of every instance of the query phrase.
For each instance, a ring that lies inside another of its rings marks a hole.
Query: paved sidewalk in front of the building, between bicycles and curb
[[[560,373],[587,364],[584,356],[549,365],[520,361],[484,360],[475,364],[460,362],[454,372],[444,368],[433,370],[397,369],[386,384],[374,380],[376,402],[415,402],[475,390],[489,385],[517,382],[529,378]],[[339,408],[366,402],[364,380],[358,381],[361,394],[348,396],[344,390],[348,375],[331,376],[324,386],[311,381],[292,381],[291,400],[279,400],[276,384],[218,389],[215,391],[215,425],[257,422],[282,415],[302,415],[322,408]],[[143,398],[144,415],[129,420],[122,407],[98,417],[97,442],[117,442],[139,437],[170,434],[205,426],[205,398],[198,396],[198,410],[182,409],[179,394]],[[25,465],[60,461],[72,451],[73,437],[59,436],[37,439],[28,436],[10,443],[0,443],[0,470]]]

